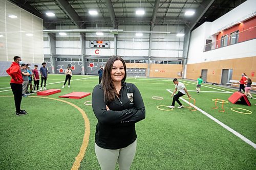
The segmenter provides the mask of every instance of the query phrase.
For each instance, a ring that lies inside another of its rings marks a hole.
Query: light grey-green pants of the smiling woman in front
[[[95,143],[95,153],[101,170],[114,170],[118,162],[120,170],[129,170],[135,156],[137,139],[126,148],[109,150],[98,147]]]

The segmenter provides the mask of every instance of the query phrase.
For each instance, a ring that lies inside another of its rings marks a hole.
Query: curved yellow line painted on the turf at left
[[[13,97],[13,95],[0,95],[0,97]],[[90,136],[90,122],[89,122],[89,118],[86,115],[86,112],[84,112],[80,107],[76,106],[75,104],[67,102],[67,101],[63,101],[60,99],[48,98],[48,97],[44,97],[44,96],[29,96],[29,98],[45,98],[45,99],[52,99],[52,100],[60,101],[63,103],[67,103],[67,104],[73,106],[74,108],[76,108],[78,111],[80,111],[80,113],[82,114],[82,117],[84,119],[84,136],[83,136],[80,151],[79,151],[78,155],[76,156],[75,162],[73,163],[73,165],[71,167],[72,170],[78,170],[80,167],[80,163],[84,157],[84,154],[86,153],[86,149],[87,149],[88,143],[89,143],[89,136]]]

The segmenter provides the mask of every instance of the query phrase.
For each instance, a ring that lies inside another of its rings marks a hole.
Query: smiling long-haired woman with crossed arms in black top
[[[117,162],[119,169],[130,169],[137,145],[135,123],[145,118],[139,89],[125,79],[123,59],[113,56],[106,62],[102,82],[93,89],[95,153],[102,170],[114,170]]]

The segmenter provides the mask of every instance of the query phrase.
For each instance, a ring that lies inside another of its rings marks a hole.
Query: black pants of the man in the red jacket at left
[[[22,84],[10,83],[12,93],[14,95],[14,102],[16,113],[20,111],[20,103],[22,103]]]

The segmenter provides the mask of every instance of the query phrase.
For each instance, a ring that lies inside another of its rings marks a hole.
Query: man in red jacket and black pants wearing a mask
[[[27,114],[26,110],[20,109],[20,103],[22,103],[22,71],[20,71],[19,64],[22,64],[22,59],[19,56],[13,58],[11,66],[6,70],[8,75],[11,76],[11,89],[14,95],[14,102],[16,107],[16,116]]]

